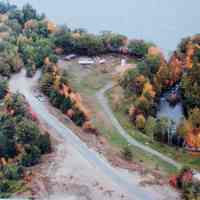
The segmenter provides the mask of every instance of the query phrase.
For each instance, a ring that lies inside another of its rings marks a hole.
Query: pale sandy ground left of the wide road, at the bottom
[[[58,144],[53,160],[44,162],[35,175],[31,187],[36,199],[128,199],[120,188],[82,159],[70,144]]]

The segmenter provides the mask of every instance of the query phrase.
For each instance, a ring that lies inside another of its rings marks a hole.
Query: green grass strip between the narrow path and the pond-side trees
[[[146,144],[153,149],[163,153],[164,155],[169,156],[170,158],[182,163],[183,165],[190,166],[197,170],[200,170],[200,157],[192,156],[184,149],[178,149],[174,147],[169,147],[168,145],[161,144],[156,141],[152,141],[151,138],[146,136],[145,134],[138,131],[134,125],[129,121],[128,115],[126,114],[126,105],[130,105],[130,102],[127,103],[127,100],[122,100],[119,106],[116,109],[116,106],[113,103],[113,96],[120,91],[119,86],[117,88],[113,88],[112,91],[108,91],[106,96],[109,100],[110,106],[119,120],[122,127],[131,135],[133,138],[138,140],[139,142]]]

